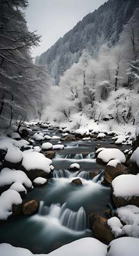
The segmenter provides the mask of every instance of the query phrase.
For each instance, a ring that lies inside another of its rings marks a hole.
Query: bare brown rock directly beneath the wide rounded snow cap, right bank
[[[121,163],[118,163],[116,167],[106,165],[104,170],[105,179],[108,183],[111,182],[119,175],[126,174],[126,166]]]

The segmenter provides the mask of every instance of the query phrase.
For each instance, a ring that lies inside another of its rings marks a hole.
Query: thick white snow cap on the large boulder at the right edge
[[[139,196],[139,175],[120,175],[112,181],[114,195],[124,198]]]

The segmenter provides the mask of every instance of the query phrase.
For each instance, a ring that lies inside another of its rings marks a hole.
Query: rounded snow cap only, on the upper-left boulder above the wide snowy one
[[[11,148],[8,149],[4,160],[11,163],[18,163],[22,161],[22,158],[22,151],[19,148]]]

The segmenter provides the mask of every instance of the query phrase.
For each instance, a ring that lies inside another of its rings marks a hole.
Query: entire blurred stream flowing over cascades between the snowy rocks
[[[33,127],[35,128],[35,127]],[[36,130],[38,127],[36,127]],[[36,131],[31,132],[31,136]],[[61,136],[57,130],[43,130],[47,135]],[[95,146],[110,146],[111,138],[106,141],[62,142],[63,150],[56,150],[52,159],[53,177],[43,187],[27,193],[25,202],[31,199],[40,201],[38,213],[33,216],[18,216],[0,224],[0,243],[30,249],[33,253],[49,253],[63,244],[86,236],[93,236],[89,223],[89,213],[104,216],[110,203],[110,189],[101,185],[103,166],[95,161]],[[59,139],[50,141],[53,145]],[[41,145],[41,143],[35,143]],[[127,146],[120,146],[124,150]],[[69,171],[70,164],[77,162],[80,170]],[[93,180],[89,172],[99,171]],[[72,184],[78,177],[81,186]]]

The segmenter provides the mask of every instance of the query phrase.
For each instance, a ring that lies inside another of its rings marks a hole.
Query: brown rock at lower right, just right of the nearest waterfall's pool
[[[96,238],[101,240],[103,243],[109,244],[112,240],[115,239],[114,234],[112,233],[110,227],[107,225],[107,219],[102,218],[101,216],[94,222],[92,230]]]

